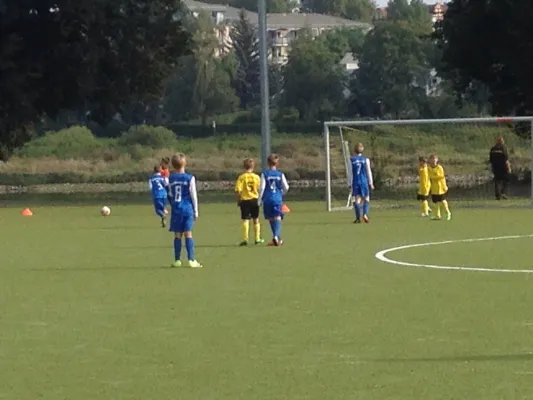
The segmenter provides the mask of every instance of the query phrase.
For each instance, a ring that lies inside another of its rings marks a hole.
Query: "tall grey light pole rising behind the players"
[[[259,79],[261,87],[261,165],[267,168],[270,154],[270,96],[268,93],[268,51],[266,0],[258,0],[259,18]]]

